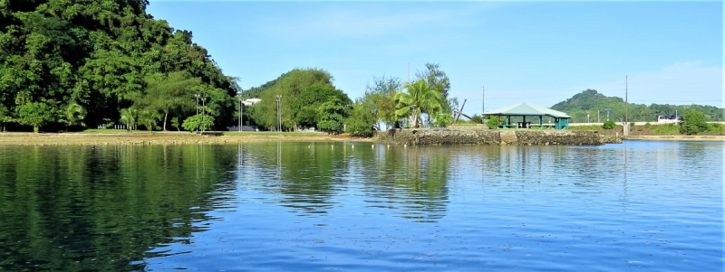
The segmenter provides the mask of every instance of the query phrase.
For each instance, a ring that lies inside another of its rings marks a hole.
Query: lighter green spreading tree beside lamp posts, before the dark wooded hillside
[[[168,76],[148,77],[146,95],[139,102],[147,108],[155,108],[164,113],[162,127],[166,131],[169,113],[193,110],[193,93],[200,83],[200,78],[192,78],[187,71],[173,71]]]

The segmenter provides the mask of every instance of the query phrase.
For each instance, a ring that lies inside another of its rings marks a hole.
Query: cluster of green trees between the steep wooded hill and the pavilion
[[[449,98],[449,89],[445,72],[438,64],[428,63],[411,83],[393,77],[373,78],[365,94],[354,102],[334,87],[329,72],[320,69],[291,70],[240,96],[262,99],[245,107],[245,126],[283,131],[314,127],[329,133],[370,136],[372,130],[391,127],[445,127],[452,121],[452,108],[458,105],[457,98]]]

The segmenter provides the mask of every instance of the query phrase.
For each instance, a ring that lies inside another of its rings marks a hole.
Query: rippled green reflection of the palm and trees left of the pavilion
[[[365,191],[373,207],[400,210],[401,217],[435,221],[445,216],[448,203],[450,149],[446,146],[379,145],[365,176]]]

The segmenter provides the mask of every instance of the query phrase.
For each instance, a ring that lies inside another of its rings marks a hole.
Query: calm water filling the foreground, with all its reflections
[[[0,270],[721,271],[724,150],[0,146]]]

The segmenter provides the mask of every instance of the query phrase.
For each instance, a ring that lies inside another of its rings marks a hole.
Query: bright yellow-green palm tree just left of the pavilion
[[[399,118],[412,118],[412,127],[420,127],[422,114],[435,115],[440,112],[440,93],[430,88],[425,80],[418,80],[415,83],[405,83],[403,88],[408,92],[395,93],[396,108],[395,115]]]

